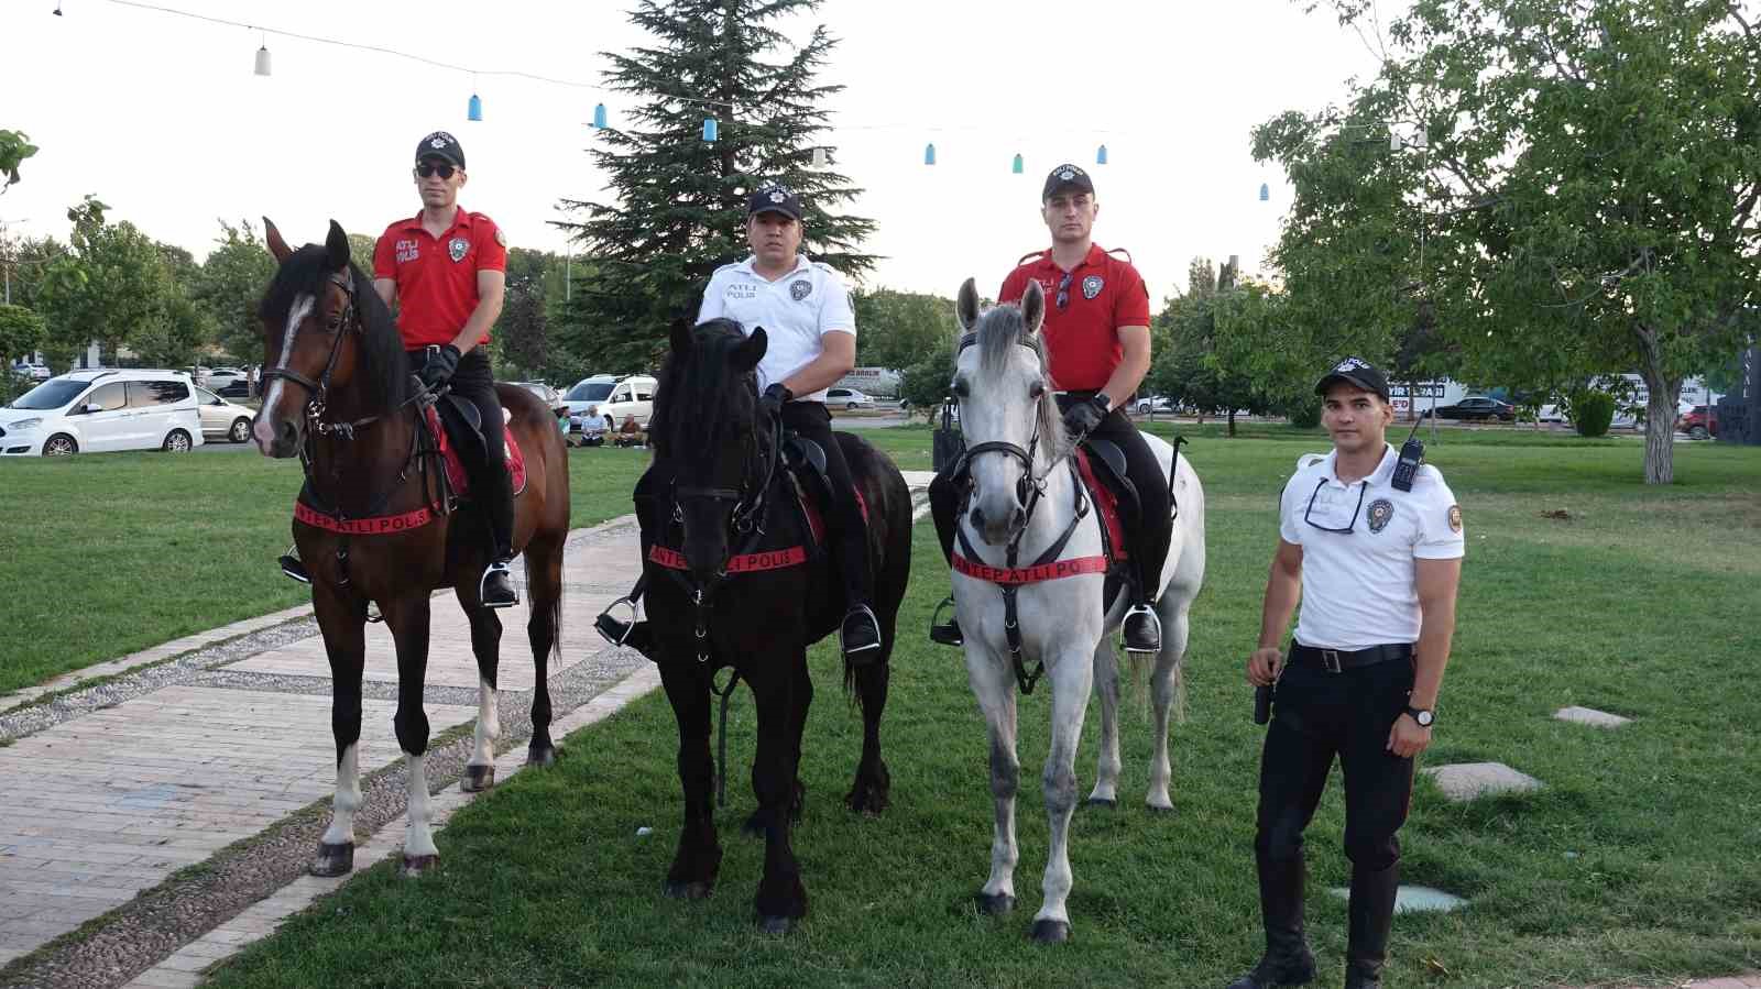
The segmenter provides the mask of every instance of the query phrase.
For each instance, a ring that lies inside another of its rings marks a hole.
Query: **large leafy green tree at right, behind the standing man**
[[[1277,250],[1301,273],[1293,299],[1349,317],[1372,287],[1414,285],[1470,377],[1557,391],[1638,371],[1648,419],[1671,422],[1682,378],[1740,347],[1761,285],[1761,39],[1742,9],[1418,0],[1389,39],[1344,118],[1256,130],[1298,187]],[[1425,148],[1388,151],[1389,121]],[[1328,255],[1333,285],[1312,276]],[[1645,480],[1673,473],[1669,429],[1650,429]]]

